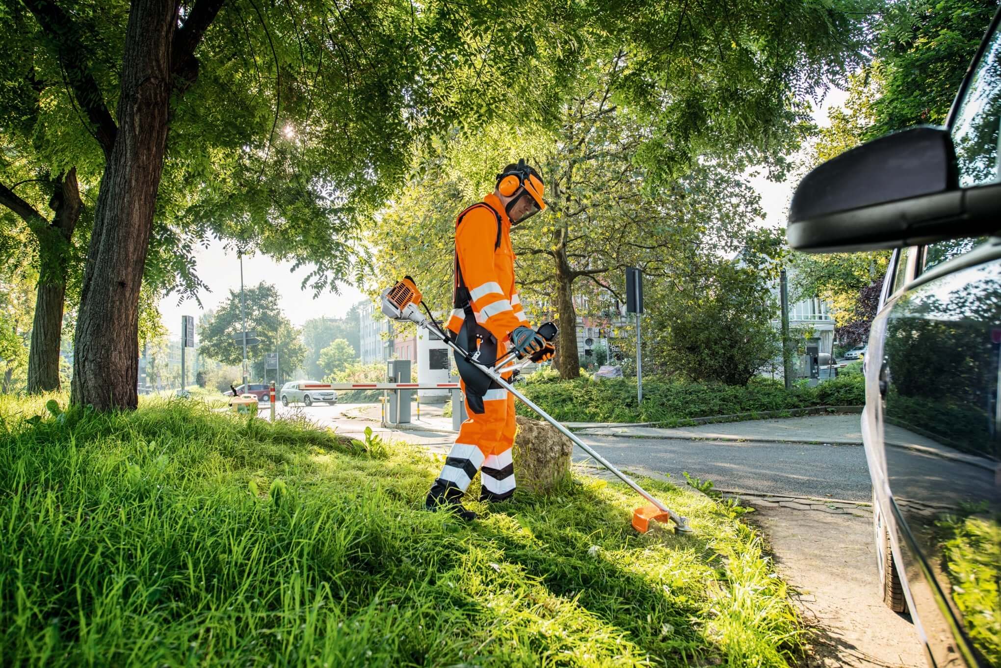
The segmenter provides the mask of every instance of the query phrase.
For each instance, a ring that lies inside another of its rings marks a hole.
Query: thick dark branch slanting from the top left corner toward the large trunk
[[[51,0],[24,0],[24,4],[55,45],[72,94],[93,123],[97,143],[104,149],[104,154],[109,155],[115,144],[118,126],[115,125],[101,96],[101,89],[90,72],[83,45],[76,37],[73,20]]]

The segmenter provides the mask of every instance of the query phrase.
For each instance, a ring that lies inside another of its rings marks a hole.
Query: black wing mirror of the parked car
[[[949,131],[922,126],[853,148],[807,174],[789,208],[789,245],[875,250],[998,227],[1001,185],[962,189]]]

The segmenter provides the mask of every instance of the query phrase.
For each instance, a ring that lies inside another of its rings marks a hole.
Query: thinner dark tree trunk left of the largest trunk
[[[49,205],[55,211],[52,224],[36,229],[40,270],[35,319],[31,326],[28,353],[28,393],[60,389],[59,349],[66,298],[66,272],[70,239],[80,219],[80,190],[76,169],[70,169],[56,183]]]

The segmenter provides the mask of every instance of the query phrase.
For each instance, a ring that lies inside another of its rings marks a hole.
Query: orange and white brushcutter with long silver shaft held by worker
[[[426,316],[420,312],[420,309],[417,307],[419,305],[423,305],[424,310],[427,312]],[[523,401],[530,409],[539,414],[543,420],[557,428],[561,434],[570,439],[576,446],[581,448],[581,450],[588,453],[588,455],[593,457],[599,464],[633,488],[644,499],[649,501],[652,505],[643,506],[633,511],[633,527],[637,531],[645,534],[653,527],[651,523],[659,522],[667,524],[667,521],[671,520],[675,523],[676,533],[689,534],[693,532],[692,527],[689,525],[688,518],[681,517],[654,498],[652,494],[640,487],[636,481],[617,469],[604,457],[596,453],[591,446],[581,441],[581,439],[579,439],[573,432],[557,422],[557,420],[546,413],[546,411],[543,411],[541,408],[536,406],[532,400],[528,399],[509,381],[504,379],[502,374],[521,371],[529,364],[532,364],[531,358],[524,358],[517,351],[512,351],[503,355],[496,360],[496,362],[493,363],[491,367],[480,364],[475,352],[470,353],[469,351],[462,350],[462,348],[459,347],[455,341],[453,341],[453,338],[448,336],[449,332],[444,331],[441,325],[438,324],[438,322],[434,319],[434,316],[431,314],[431,311],[427,308],[427,305],[422,304],[420,290],[417,289],[413,279],[409,276],[405,276],[402,280],[397,281],[392,287],[387,287],[382,291],[382,312],[390,319],[413,322],[418,327],[423,327],[424,329],[427,329],[428,331],[439,337],[441,341],[458,354],[462,361],[470,365],[471,368],[481,372],[485,378],[488,379],[488,382],[491,381],[497,384]],[[557,327],[553,322],[547,322],[539,327],[538,331],[539,335],[546,341],[553,341],[557,335]],[[468,381],[466,383],[468,383]]]

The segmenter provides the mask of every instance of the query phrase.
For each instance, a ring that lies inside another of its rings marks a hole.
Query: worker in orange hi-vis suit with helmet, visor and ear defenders
[[[520,160],[497,174],[493,192],[455,219],[454,310],[446,326],[458,346],[486,367],[499,357],[498,349],[500,355],[518,350],[535,361],[553,357],[552,344],[525,316],[511,244],[512,227],[546,208],[544,191],[542,177]],[[477,471],[480,501],[506,501],[515,493],[515,398],[458,354],[455,363],[469,419],[424,505],[473,520],[476,514],[462,507],[461,498]]]

